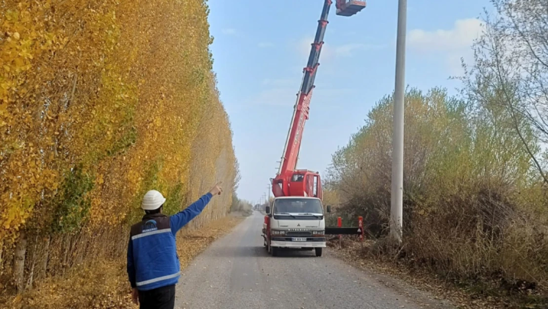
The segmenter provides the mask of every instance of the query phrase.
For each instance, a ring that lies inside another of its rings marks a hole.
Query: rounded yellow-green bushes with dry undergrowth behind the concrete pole
[[[335,217],[355,224],[363,216],[367,238],[376,240],[367,251],[372,256],[399,257],[444,278],[488,278],[512,291],[545,292],[543,179],[496,97],[482,105],[442,89],[406,93],[404,237],[402,247],[390,246],[392,98],[381,99],[333,155],[325,200],[337,205]],[[532,130],[521,125],[535,145]]]

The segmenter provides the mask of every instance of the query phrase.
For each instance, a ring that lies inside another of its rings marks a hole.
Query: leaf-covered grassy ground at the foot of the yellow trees
[[[228,216],[178,235],[181,268],[215,239],[228,233],[243,217]],[[0,289],[1,291],[2,289]],[[125,258],[100,259],[74,267],[64,276],[43,280],[35,289],[13,297],[2,292],[2,309],[137,308],[130,300]]]

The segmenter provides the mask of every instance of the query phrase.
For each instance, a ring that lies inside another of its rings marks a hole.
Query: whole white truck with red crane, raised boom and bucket
[[[306,68],[303,69],[301,87],[297,93],[293,116],[289,125],[278,173],[272,178],[274,199],[266,206],[262,227],[265,248],[273,255],[279,248],[301,248],[316,251],[322,256],[326,248],[322,183],[319,172],[296,169],[302,131],[309,119],[310,99],[315,88],[314,80],[319,66],[319,54],[328,24],[327,17],[332,0],[324,0],[318,20],[316,36]],[[366,7],[365,1],[336,0],[336,15],[352,16]],[[330,207],[327,207],[327,212]]]

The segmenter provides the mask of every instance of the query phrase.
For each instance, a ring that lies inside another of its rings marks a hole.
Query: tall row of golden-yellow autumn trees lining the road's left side
[[[172,214],[237,162],[203,0],[0,2],[0,272],[28,288],[118,257],[155,188]]]

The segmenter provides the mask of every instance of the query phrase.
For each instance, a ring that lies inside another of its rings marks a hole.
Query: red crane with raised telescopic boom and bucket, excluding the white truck
[[[278,173],[272,179],[272,193],[274,196],[315,196],[319,199],[322,198],[322,184],[319,173],[309,170],[296,170],[296,165],[301,146],[302,131],[306,120],[309,119],[310,99],[315,87],[314,80],[319,66],[319,54],[322,50],[323,37],[328,24],[327,17],[332,3],[332,0],[324,1],[309,60],[306,68],[303,69],[301,88],[297,93],[286,146],[283,150]],[[337,0],[336,14],[351,16],[365,7],[365,1]]]

